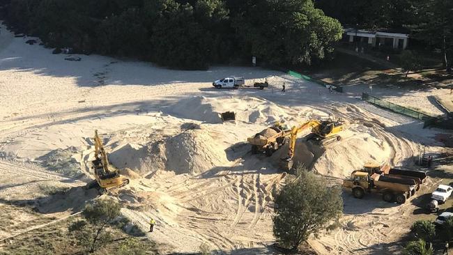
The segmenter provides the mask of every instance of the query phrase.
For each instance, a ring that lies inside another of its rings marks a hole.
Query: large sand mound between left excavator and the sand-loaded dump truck
[[[109,160],[139,173],[165,169],[178,174],[203,173],[229,162],[223,146],[206,130],[187,130],[145,146],[125,144],[110,153]]]

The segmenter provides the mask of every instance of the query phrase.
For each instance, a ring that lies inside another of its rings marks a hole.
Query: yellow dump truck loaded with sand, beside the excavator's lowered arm
[[[249,137],[247,141],[252,145],[252,154],[264,152],[266,156],[270,157],[275,150],[289,141],[290,134],[291,130],[288,127],[275,123],[272,127]]]

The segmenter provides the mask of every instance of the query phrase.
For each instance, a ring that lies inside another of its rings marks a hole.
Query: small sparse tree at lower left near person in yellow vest
[[[112,235],[106,230],[108,224],[121,215],[121,206],[112,199],[98,199],[86,205],[82,211],[84,219],[73,222],[68,227],[80,245],[94,252],[102,245],[112,242]]]

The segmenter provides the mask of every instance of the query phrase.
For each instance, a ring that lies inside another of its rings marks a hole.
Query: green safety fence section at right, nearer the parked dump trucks
[[[395,105],[392,102],[382,100],[381,98],[376,98],[367,93],[362,93],[362,100],[370,102],[373,105],[378,105],[379,107],[382,107],[385,109],[390,109],[390,111],[394,111],[398,114],[403,114],[403,115],[410,116],[413,118],[418,118],[419,120],[424,121],[424,127],[433,125],[433,123],[436,123],[438,121],[438,118],[436,118],[436,117],[429,116],[428,114],[424,114],[420,111],[415,111],[413,109],[402,107],[401,105]]]

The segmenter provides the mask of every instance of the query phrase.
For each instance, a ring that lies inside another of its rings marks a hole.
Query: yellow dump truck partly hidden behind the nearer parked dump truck
[[[416,189],[420,189],[427,179],[427,173],[417,170],[396,169],[390,167],[388,164],[378,164],[376,162],[367,162],[363,166],[363,171],[372,175],[373,173],[383,174],[392,178],[413,179],[417,183]]]

